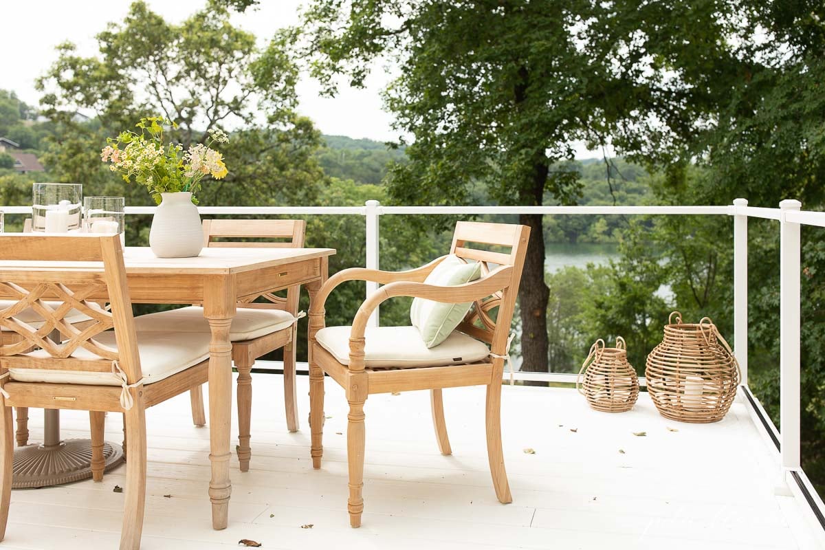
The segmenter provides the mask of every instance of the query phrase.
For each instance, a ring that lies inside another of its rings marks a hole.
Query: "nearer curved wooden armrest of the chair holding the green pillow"
[[[352,320],[350,344],[353,340],[364,337],[367,320],[375,311],[375,308],[384,300],[398,296],[410,296],[444,303],[473,302],[474,300],[486,298],[499,290],[506,289],[512,280],[512,270],[512,266],[499,266],[481,279],[455,286],[440,286],[409,281],[385,284],[370,298],[365,299],[364,303],[361,304],[361,308],[358,308],[358,313]]]

